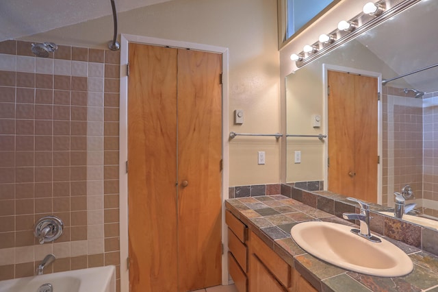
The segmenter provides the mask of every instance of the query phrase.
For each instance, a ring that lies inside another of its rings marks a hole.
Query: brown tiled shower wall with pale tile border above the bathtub
[[[120,53],[30,47],[0,42],[0,280],[33,275],[50,253],[45,273],[116,265],[119,278]],[[65,227],[40,245],[45,215]]]

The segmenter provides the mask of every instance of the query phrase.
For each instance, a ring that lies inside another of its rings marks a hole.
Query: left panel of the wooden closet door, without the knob
[[[178,291],[177,49],[129,44],[129,287]]]

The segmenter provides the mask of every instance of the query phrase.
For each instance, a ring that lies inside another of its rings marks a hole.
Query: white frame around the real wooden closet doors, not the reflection
[[[136,42],[144,45],[168,46],[183,49],[195,49],[198,51],[209,51],[222,54],[222,285],[229,284],[228,276],[228,232],[225,223],[225,199],[229,198],[229,110],[228,110],[228,77],[229,77],[229,49],[203,45],[194,42],[183,42],[180,40],[166,40],[163,38],[152,38],[148,36],[135,36],[122,34],[120,37],[120,152],[119,152],[119,201],[120,201],[120,291],[129,291],[129,271],[127,269],[127,258],[129,257],[128,239],[128,45],[129,42]]]

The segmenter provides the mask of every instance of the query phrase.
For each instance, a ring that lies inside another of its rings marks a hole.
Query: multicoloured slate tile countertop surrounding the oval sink
[[[438,292],[438,256],[417,247],[381,236],[409,254],[414,268],[403,277],[368,276],[335,267],[307,254],[290,235],[292,226],[302,221],[320,220],[353,226],[350,221],[283,195],[227,199],[225,206],[320,291]]]

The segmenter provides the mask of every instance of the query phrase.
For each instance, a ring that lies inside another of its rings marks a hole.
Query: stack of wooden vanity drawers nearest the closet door
[[[239,292],[248,292],[248,227],[229,210],[225,213],[228,225],[228,268]]]

